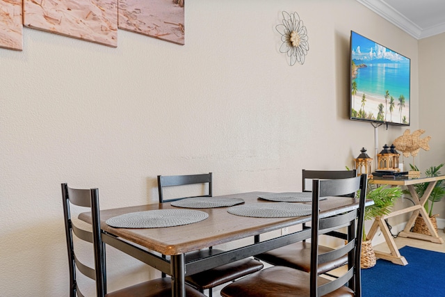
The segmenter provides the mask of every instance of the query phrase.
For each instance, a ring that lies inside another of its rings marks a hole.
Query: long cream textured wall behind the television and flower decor
[[[278,51],[283,10],[307,26],[305,65]],[[371,125],[348,120],[350,30],[412,59],[416,129],[417,40],[353,0],[188,1],[184,46],[24,29],[22,52],[0,49],[0,294],[67,296],[62,182],[98,187],[107,209],[156,202],[159,174],[211,171],[215,195],[298,191],[303,168],[372,156]],[[403,131],[381,127],[379,147]],[[156,274],[108,259],[110,283],[130,275],[111,289]]]

